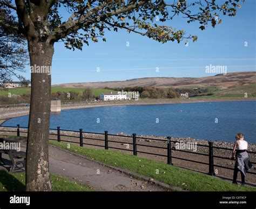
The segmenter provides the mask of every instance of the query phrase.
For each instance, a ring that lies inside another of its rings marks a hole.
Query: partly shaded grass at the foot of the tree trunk
[[[62,176],[51,174],[54,191],[92,191],[89,187],[70,182]],[[8,173],[0,171],[0,191],[25,191],[25,173]]]

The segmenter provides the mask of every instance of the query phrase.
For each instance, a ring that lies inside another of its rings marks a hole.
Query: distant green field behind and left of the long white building
[[[52,92],[83,92],[85,88],[64,88],[64,87],[52,87]],[[93,94],[95,96],[99,96],[101,93],[116,93],[115,90],[110,89],[102,89],[102,88],[95,88],[93,89]],[[30,88],[11,88],[7,90],[0,90],[0,96],[8,96],[8,93],[12,95],[23,95],[23,94],[30,94]]]

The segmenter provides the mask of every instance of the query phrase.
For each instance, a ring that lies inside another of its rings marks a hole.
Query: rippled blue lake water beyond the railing
[[[3,126],[28,126],[28,116]],[[256,143],[256,102],[199,102],[168,105],[133,105],[63,110],[51,114],[51,128],[111,134],[136,133],[192,137],[233,142],[236,133]]]

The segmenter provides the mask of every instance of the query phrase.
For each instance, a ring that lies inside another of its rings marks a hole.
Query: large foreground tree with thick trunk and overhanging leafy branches
[[[39,70],[51,66],[53,45],[57,41],[63,41],[67,48],[82,50],[90,39],[106,41],[105,30],[118,29],[161,43],[179,43],[185,38],[195,41],[197,36],[171,27],[171,20],[185,17],[180,21],[198,22],[204,30],[209,23],[213,27],[220,23],[223,15],[234,16],[240,8],[239,0],[15,0],[15,3],[2,0],[1,4],[17,13],[17,31],[28,40],[30,65]],[[67,19],[60,14],[63,8],[70,13]],[[51,191],[48,161],[51,75],[38,72],[31,72],[26,190]]]

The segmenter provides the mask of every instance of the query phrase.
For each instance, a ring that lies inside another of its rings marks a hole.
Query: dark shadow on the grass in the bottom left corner
[[[0,171],[0,184],[5,187],[6,191],[25,191],[25,185],[6,171]],[[0,191],[4,190],[0,188]]]

